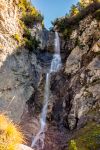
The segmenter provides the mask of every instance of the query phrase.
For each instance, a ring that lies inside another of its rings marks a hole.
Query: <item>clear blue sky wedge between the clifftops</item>
[[[51,21],[57,17],[64,16],[69,12],[72,4],[78,0],[31,0],[33,5],[41,11],[44,16],[46,28],[51,27]]]

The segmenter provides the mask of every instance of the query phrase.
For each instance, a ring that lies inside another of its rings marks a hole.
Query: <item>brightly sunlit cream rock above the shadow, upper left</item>
[[[12,54],[17,46],[12,38],[13,34],[20,32],[17,11],[15,2],[0,1],[0,66],[2,66],[2,62],[5,61],[7,55]]]

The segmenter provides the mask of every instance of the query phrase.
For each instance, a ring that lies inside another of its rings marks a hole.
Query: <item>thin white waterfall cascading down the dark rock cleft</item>
[[[53,56],[49,73],[46,74],[46,84],[44,92],[44,105],[41,112],[40,124],[41,128],[34,140],[32,141],[32,148],[37,150],[43,149],[45,139],[45,128],[46,128],[46,116],[49,102],[49,85],[50,85],[50,73],[57,72],[61,67],[61,56],[60,56],[60,39],[57,32],[55,32],[55,54]]]

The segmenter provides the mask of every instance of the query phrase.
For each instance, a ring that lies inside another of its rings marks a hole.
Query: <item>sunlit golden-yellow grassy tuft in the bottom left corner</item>
[[[23,142],[23,135],[18,127],[0,114],[0,150],[16,150],[16,145]]]

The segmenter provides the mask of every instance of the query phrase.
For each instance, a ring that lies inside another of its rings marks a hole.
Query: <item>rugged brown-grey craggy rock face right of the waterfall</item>
[[[69,39],[62,42],[62,50],[65,46],[66,55],[64,68],[53,77],[51,90],[57,97],[54,113],[57,107],[61,109],[58,118],[69,129],[74,129],[82,116],[100,105],[99,89],[97,90],[100,86],[99,29],[98,20],[89,15],[80,21]],[[76,38],[78,42],[74,44]],[[69,44],[71,42],[73,44]]]

